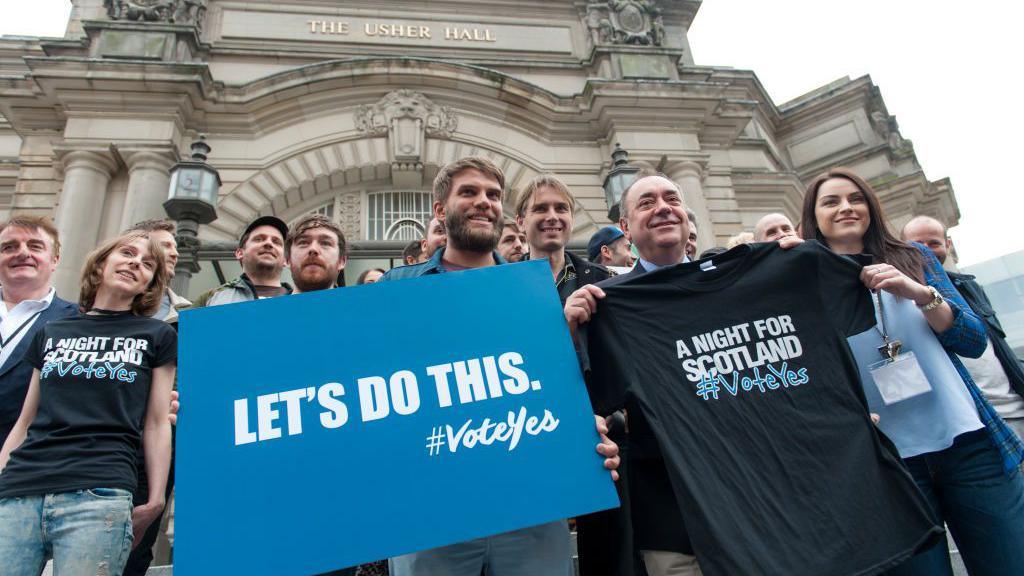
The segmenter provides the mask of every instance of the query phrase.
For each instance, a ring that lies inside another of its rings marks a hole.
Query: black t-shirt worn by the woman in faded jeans
[[[135,490],[153,369],[176,360],[174,329],[130,313],[82,315],[47,323],[25,358],[40,371],[39,410],[0,472],[0,497]]]

